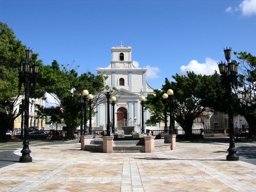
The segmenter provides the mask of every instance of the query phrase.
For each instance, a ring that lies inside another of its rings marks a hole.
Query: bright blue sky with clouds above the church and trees
[[[156,89],[187,70],[212,74],[223,47],[256,56],[256,0],[0,0],[0,21],[45,65],[74,60],[79,73],[107,67],[122,40]]]

